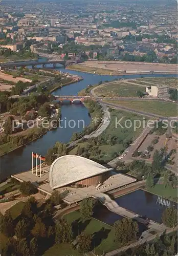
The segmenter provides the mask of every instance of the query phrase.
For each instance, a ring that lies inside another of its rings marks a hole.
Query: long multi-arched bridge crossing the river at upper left
[[[53,64],[53,67],[55,68],[57,64],[63,65],[64,67],[67,67],[71,65],[72,63],[78,63],[82,61],[77,61],[77,60],[63,60],[63,59],[58,59],[58,60],[44,60],[44,61],[38,61],[38,60],[30,60],[30,61],[12,61],[12,62],[6,62],[6,63],[1,63],[1,69],[4,70],[6,68],[12,68],[16,69],[17,67],[27,67],[27,66],[32,66],[32,68],[36,68],[37,66],[42,66],[45,67],[47,64]]]

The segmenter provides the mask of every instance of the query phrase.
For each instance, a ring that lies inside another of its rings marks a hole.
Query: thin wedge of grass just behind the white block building
[[[152,84],[161,84],[163,86],[168,86],[177,89],[177,78],[176,77],[151,77],[151,78],[138,78],[137,81],[150,82]],[[148,84],[148,83],[147,83]],[[150,84],[151,86],[151,84]]]

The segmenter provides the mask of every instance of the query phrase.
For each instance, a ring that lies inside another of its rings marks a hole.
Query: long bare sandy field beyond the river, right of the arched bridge
[[[100,68],[105,70],[112,70],[114,72],[126,73],[147,73],[154,72],[167,72],[177,73],[176,64],[164,63],[146,63],[146,62],[128,62],[128,61],[85,61],[79,63],[80,66]]]

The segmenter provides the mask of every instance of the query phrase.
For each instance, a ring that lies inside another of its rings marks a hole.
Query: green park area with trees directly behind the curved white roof
[[[136,131],[133,130],[133,127],[130,127],[129,129],[124,127],[124,129],[122,129],[119,124],[117,125],[117,121],[119,121],[120,118],[122,118],[120,121],[121,125],[124,125],[127,119],[131,120],[132,122],[137,119],[143,124],[142,116],[112,109],[110,109],[110,115],[111,117],[109,125],[105,131],[99,135],[98,138],[96,138],[97,146],[91,147],[91,141],[87,140],[78,143],[69,152],[69,154],[76,155],[79,146],[80,148],[83,148],[83,150],[88,148],[87,152],[90,153],[90,156],[88,156],[90,159],[100,160],[103,163],[108,162],[120,155],[125,148],[128,147],[129,143],[134,141],[143,130],[143,125]]]

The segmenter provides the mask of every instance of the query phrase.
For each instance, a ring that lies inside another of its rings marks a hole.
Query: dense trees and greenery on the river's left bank
[[[4,133],[0,135],[1,155],[37,139],[39,136],[49,131],[50,127],[49,129],[46,129],[40,124],[40,127],[26,127],[27,121],[34,120],[37,117],[36,111],[38,112],[38,116],[41,116],[41,118],[46,117],[47,119],[50,119],[52,112],[50,103],[51,100],[53,100],[53,97],[48,93],[43,93],[41,95],[31,94],[27,97],[12,99],[8,97],[8,94],[2,92],[0,97],[2,99],[3,111],[10,111],[10,115],[4,123]],[[56,103],[55,108],[59,109],[58,115],[60,116],[59,104]],[[19,126],[17,129],[13,130],[12,123],[14,119],[19,120],[19,122],[23,119],[25,121],[25,123],[23,123],[23,127]]]

